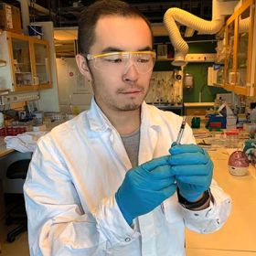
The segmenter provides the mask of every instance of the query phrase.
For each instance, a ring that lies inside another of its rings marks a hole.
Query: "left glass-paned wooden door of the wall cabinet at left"
[[[31,50],[28,39],[8,37],[15,91],[34,90]]]

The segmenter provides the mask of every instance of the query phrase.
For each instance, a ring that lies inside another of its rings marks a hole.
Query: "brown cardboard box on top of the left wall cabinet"
[[[19,8],[0,3],[0,29],[22,33]]]

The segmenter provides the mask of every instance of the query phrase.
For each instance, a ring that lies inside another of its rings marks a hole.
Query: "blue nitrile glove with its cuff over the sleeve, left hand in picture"
[[[176,192],[169,157],[155,158],[127,171],[115,198],[129,225],[133,219],[150,212]]]

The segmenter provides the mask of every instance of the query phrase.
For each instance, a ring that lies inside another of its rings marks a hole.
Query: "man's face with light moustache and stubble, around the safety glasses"
[[[151,31],[140,17],[103,16],[95,28],[90,54],[152,49]],[[140,107],[149,89],[152,70],[145,74],[129,61],[123,69],[97,69],[88,62],[95,101],[103,112],[132,111]]]

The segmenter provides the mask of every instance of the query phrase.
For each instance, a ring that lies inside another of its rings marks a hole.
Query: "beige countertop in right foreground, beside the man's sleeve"
[[[214,178],[232,198],[227,223],[212,234],[187,230],[188,256],[229,256],[256,253],[256,169],[251,165],[247,176],[231,176],[226,148],[209,151],[214,162]]]

